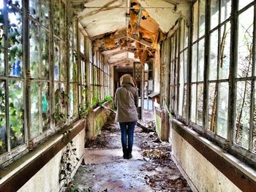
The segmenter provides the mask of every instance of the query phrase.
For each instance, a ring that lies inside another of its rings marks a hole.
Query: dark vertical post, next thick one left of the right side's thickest
[[[208,77],[210,64],[210,28],[211,28],[211,1],[206,1],[205,6],[205,48],[204,48],[204,74],[203,74],[203,132],[208,127]],[[200,13],[199,13],[200,14]],[[199,24],[198,24],[199,27]],[[199,31],[199,30],[198,30]],[[199,44],[198,44],[199,45]]]

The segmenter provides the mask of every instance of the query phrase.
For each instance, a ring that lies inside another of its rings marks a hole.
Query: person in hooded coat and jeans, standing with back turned
[[[120,78],[120,84],[121,87],[116,90],[115,96],[116,121],[121,128],[123,157],[129,159],[132,158],[133,135],[138,120],[138,89],[130,74],[124,74]]]

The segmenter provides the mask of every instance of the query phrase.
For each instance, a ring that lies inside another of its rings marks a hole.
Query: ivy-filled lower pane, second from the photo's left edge
[[[22,145],[25,141],[23,117],[23,83],[12,80],[9,82],[9,118],[12,149]]]

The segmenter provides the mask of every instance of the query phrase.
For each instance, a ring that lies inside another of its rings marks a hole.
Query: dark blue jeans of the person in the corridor
[[[135,131],[136,121],[119,123],[119,126],[121,128],[121,145],[123,147],[123,151],[124,153],[132,152],[133,134]],[[127,147],[127,136],[128,136],[128,147]]]

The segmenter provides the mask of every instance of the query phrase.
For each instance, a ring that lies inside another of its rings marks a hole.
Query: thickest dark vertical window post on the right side
[[[236,123],[236,74],[238,61],[238,1],[231,1],[230,16],[230,80],[229,80],[229,104],[228,104],[228,126],[227,145],[233,145]],[[229,147],[228,146],[228,147]]]

